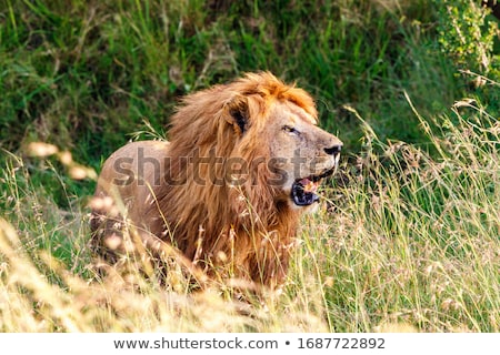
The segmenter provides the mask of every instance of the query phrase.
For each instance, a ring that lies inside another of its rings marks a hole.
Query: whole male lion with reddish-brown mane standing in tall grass
[[[342,143],[317,123],[311,97],[269,72],[186,97],[170,142],[129,143],[104,162],[93,248],[116,258],[132,229],[157,256],[168,242],[211,276],[276,287],[300,216],[339,161]]]

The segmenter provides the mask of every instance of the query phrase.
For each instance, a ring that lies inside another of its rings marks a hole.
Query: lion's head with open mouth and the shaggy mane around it
[[[190,155],[194,149],[223,158],[224,171],[218,173],[227,185],[246,186],[246,197],[257,209],[283,201],[303,209],[319,201],[319,182],[333,172],[342,148],[317,124],[311,97],[264,72],[188,97],[172,118],[170,140],[173,150],[183,150],[174,155]],[[202,128],[190,130],[192,125]]]

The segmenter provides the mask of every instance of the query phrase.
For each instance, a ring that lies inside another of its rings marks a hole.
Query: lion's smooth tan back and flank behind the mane
[[[131,142],[106,160],[91,202],[94,245],[103,246],[110,236],[121,237],[124,220],[141,231],[154,226],[148,206],[154,204],[169,145],[167,141]]]

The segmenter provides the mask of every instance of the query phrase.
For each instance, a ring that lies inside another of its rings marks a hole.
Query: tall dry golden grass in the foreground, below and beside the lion
[[[364,125],[357,163],[304,217],[283,292],[252,306],[223,287],[187,293],[176,268],[167,286],[93,274],[83,204],[61,211],[11,156],[0,180],[11,203],[0,222],[0,329],[499,332],[499,121],[471,100],[436,118],[439,131],[414,114],[438,154],[383,143]]]

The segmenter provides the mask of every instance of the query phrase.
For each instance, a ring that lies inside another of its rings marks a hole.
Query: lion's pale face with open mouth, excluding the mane
[[[319,201],[321,179],[331,175],[339,162],[342,142],[316,125],[316,119],[291,102],[278,102],[269,113],[271,169],[274,181],[292,206]]]

